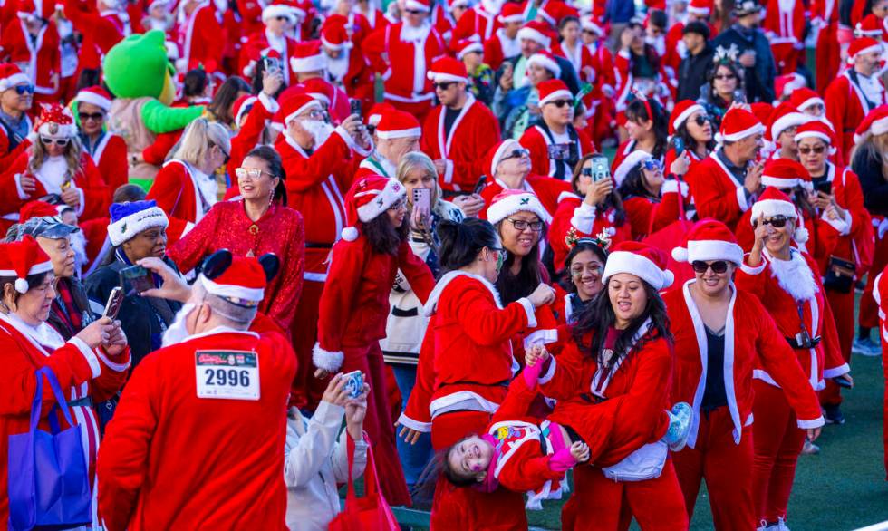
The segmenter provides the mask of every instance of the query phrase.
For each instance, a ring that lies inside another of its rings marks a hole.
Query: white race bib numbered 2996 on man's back
[[[256,352],[195,352],[198,398],[259,400],[259,359]]]

